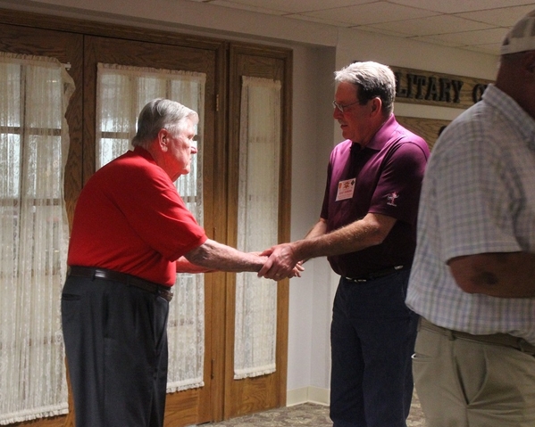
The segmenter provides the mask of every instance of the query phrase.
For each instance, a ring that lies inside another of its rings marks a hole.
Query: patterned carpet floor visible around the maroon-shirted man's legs
[[[205,425],[209,427],[328,427],[332,425],[332,422],[329,418],[328,406],[304,403]],[[422,408],[418,397],[414,394],[407,426],[424,427],[424,425]]]

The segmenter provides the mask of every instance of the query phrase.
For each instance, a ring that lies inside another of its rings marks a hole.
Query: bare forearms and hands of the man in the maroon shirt
[[[324,221],[321,220],[305,239],[264,250],[263,255],[269,255],[270,258],[258,275],[268,279],[287,277],[297,262],[304,259],[341,255],[380,244],[396,221],[396,218],[386,215],[368,213],[347,226],[325,233]]]

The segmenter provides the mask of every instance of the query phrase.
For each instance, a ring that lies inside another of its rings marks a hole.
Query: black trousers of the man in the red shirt
[[[124,283],[68,277],[62,323],[76,427],[161,427],[169,302]]]

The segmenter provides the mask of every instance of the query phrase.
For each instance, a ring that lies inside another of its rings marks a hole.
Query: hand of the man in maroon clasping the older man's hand
[[[258,272],[258,277],[281,280],[287,277],[300,277],[305,270],[300,259],[297,259],[291,243],[282,243],[264,250],[261,255],[269,256]]]

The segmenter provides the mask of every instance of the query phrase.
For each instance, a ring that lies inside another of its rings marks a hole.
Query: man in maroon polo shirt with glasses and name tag
[[[334,427],[405,427],[417,324],[405,291],[429,149],[397,123],[388,67],[356,62],[336,81],[334,119],[347,139],[331,152],[320,220],[305,239],[264,251],[259,275],[328,257],[341,276],[330,334]]]

